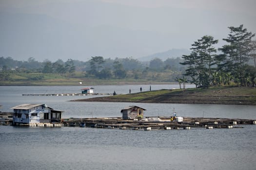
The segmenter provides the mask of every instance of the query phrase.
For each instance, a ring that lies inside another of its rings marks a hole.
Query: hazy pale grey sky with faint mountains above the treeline
[[[229,26],[256,33],[256,0],[0,0],[0,55],[39,61],[139,58],[189,49]]]

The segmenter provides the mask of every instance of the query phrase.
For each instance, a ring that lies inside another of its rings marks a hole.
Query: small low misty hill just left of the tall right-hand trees
[[[154,58],[159,58],[161,60],[166,60],[167,58],[177,58],[181,57],[182,55],[188,55],[190,54],[191,51],[187,49],[172,49],[164,52],[158,52],[152,55],[144,56],[141,58],[138,58],[140,61],[150,61],[153,60]]]

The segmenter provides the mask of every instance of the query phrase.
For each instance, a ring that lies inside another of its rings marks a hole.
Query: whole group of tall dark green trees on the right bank
[[[197,87],[208,88],[211,85],[240,86],[255,85],[256,68],[248,65],[250,56],[255,58],[255,34],[239,27],[228,27],[230,34],[223,38],[228,44],[218,49],[215,45],[218,40],[213,36],[205,35],[192,44],[190,55],[183,55],[186,65],[184,75],[190,76],[192,84]],[[256,65],[255,65],[256,66]]]

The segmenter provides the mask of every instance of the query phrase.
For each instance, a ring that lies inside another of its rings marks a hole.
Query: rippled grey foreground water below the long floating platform
[[[0,169],[254,170],[256,166],[255,125],[169,131],[2,127]]]

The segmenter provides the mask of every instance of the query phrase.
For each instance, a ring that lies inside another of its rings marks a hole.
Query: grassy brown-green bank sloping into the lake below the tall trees
[[[223,86],[209,89],[162,89],[75,101],[256,105],[256,88]]]

